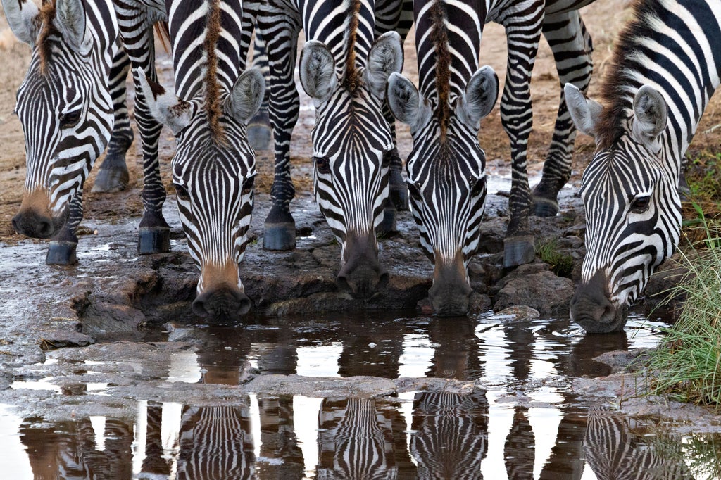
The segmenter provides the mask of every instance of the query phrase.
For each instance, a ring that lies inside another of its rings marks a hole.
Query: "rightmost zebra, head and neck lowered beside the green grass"
[[[588,333],[622,330],[650,275],[681,231],[681,159],[720,83],[721,4],[641,0],[615,45],[603,104],[572,85],[578,130],[596,140],[583,172],[586,213],[571,318]]]

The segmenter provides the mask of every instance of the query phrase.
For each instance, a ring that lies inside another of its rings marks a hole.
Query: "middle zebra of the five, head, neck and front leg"
[[[295,246],[289,146],[298,118],[293,65],[302,27],[306,44],[299,76],[316,106],[314,193],[341,246],[337,285],[360,298],[388,281],[376,241],[384,210],[392,210],[387,198],[394,142],[382,102],[386,79],[403,63],[397,32],[373,40],[374,7],[370,0],[262,0],[254,6],[267,45],[275,139],[273,205],[265,219],[263,247]]]

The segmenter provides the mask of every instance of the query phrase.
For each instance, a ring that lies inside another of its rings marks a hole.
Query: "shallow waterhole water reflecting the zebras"
[[[570,393],[573,378],[609,373],[593,357],[653,346],[660,325],[634,316],[625,333],[585,337],[564,319],[368,313],[182,327],[169,339],[202,347],[169,357],[162,371],[173,384],[235,385],[257,368],[307,377],[450,378],[482,388],[379,399],[250,393],[216,404],[141,400],[131,419],[63,422],[18,417],[1,406],[0,472],[19,480],[623,479],[638,471],[634,478],[719,478],[721,436],[665,435],[658,419],[628,419]],[[92,373],[102,363],[77,368]],[[92,402],[114,387],[87,381],[61,389],[45,377],[12,388]]]

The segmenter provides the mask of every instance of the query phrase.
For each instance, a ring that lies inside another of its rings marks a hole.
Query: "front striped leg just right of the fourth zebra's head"
[[[542,2],[540,2],[542,4]],[[518,5],[500,22],[505,26],[508,43],[508,70],[500,102],[503,129],[510,138],[512,161],[511,188],[508,207],[510,221],[503,240],[503,264],[515,267],[533,262],[536,257],[534,237],[528,225],[531,210],[531,188],[528,186],[526,157],[531,134],[531,72],[536,61],[543,8],[539,1],[529,0]]]

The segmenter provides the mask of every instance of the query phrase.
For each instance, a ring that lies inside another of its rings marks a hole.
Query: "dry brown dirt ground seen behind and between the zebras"
[[[595,72],[590,85],[592,97],[598,96],[614,37],[630,15],[631,11],[628,5],[628,0],[599,0],[582,11],[594,44]],[[27,69],[30,48],[15,39],[7,27],[4,16],[0,17],[0,55],[4,66],[0,69],[0,143],[2,145],[0,151],[0,240],[12,242],[20,238],[12,231],[10,220],[19,208],[25,178],[25,146],[22,128],[12,112],[15,105],[15,92]],[[503,28],[496,24],[487,25],[482,40],[481,63],[490,64],[495,68],[502,84],[505,78],[505,55]],[[167,55],[161,53],[159,69],[161,78],[166,85],[172,83],[170,66]],[[416,70],[415,44],[411,35],[405,46],[404,73],[417,81]],[[132,86],[130,88],[132,90]],[[304,95],[300,87],[298,89],[301,90],[301,118],[298,120],[293,134],[291,154],[293,166],[296,168],[293,172],[293,179],[296,182],[296,188],[303,191],[311,188],[310,169],[304,167],[310,164],[309,135],[314,123],[314,114],[308,97]],[[542,161],[552,136],[560,92],[552,53],[545,40],[541,41],[539,55],[536,59],[531,92],[534,105],[534,130],[528,143],[528,169],[533,174],[542,168]],[[132,97],[131,92],[129,94],[131,102]],[[689,149],[690,156],[698,156],[700,152],[715,154],[717,151],[721,151],[721,129],[717,128],[721,125],[720,107],[721,99],[715,97],[707,107],[701,125],[699,125],[694,143]],[[404,158],[410,152],[410,133],[407,127],[400,123],[397,123],[397,128],[399,151]],[[174,151],[174,140],[169,130],[163,131],[161,142],[161,158],[164,167],[162,174],[169,185],[168,165]],[[497,105],[482,122],[480,143],[486,151],[490,164],[498,166],[501,172],[510,168],[509,141],[501,127]],[[572,183],[577,184],[580,173],[583,172],[583,167],[590,159],[591,154],[593,154],[593,140],[585,135],[579,135],[576,141]],[[260,172],[256,182],[257,188],[268,191],[273,179],[273,156],[270,151],[259,151],[257,159],[257,168]],[[143,182],[141,160],[140,146],[136,141],[128,152],[131,188],[125,192],[112,195],[98,195],[89,192],[94,180],[94,174],[91,174],[85,197],[87,218],[141,215],[142,205],[139,197]]]

